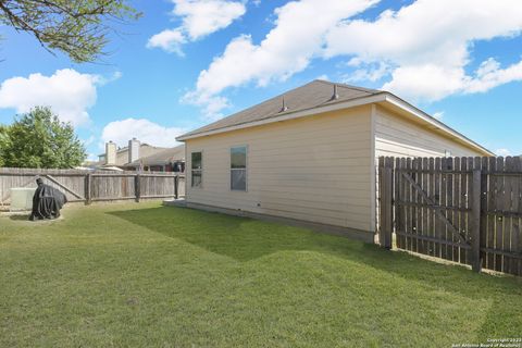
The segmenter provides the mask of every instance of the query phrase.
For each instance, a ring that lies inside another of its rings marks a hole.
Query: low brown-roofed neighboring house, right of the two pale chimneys
[[[151,156],[125,164],[126,169],[151,172],[185,172],[185,146],[163,149]]]

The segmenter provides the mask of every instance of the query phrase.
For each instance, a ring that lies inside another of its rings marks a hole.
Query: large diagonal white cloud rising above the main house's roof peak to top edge
[[[248,35],[233,39],[224,53],[200,73],[196,90],[189,96],[212,100],[227,87],[285,80],[320,55],[324,37],[333,26],[374,3],[376,0],[288,2],[275,10],[275,27],[260,45],[254,45]]]

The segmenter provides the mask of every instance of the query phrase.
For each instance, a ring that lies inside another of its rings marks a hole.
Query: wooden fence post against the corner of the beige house
[[[378,244],[391,249],[393,233],[393,192],[394,192],[394,172],[393,160],[388,158],[378,159],[378,191],[380,191],[380,231]]]

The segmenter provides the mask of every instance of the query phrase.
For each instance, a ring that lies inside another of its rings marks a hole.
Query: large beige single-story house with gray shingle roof
[[[184,134],[186,204],[373,240],[376,158],[494,156],[397,96],[313,80]]]

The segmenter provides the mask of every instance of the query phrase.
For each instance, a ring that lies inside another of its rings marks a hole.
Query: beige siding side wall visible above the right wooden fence
[[[375,109],[375,154],[393,157],[482,156],[439,134],[377,107]]]

